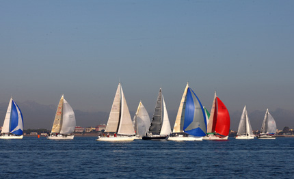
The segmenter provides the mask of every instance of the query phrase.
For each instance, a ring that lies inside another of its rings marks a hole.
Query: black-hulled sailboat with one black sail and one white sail
[[[159,89],[155,111],[153,113],[152,122],[150,124],[148,133],[142,137],[143,140],[162,140],[172,133],[170,128],[170,120],[168,118],[168,111],[165,107],[165,101]]]

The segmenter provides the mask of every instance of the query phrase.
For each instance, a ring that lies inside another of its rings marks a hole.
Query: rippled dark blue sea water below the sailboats
[[[294,138],[0,140],[0,178],[293,178]]]

